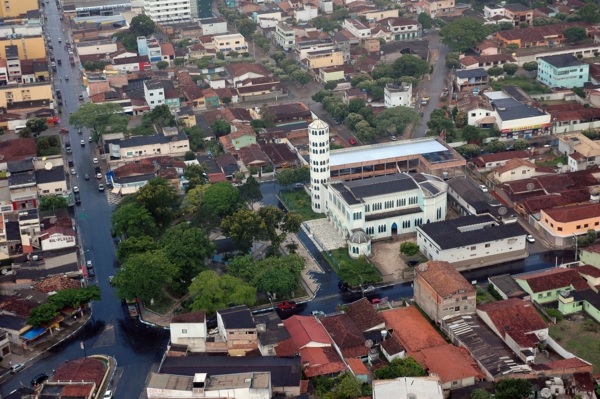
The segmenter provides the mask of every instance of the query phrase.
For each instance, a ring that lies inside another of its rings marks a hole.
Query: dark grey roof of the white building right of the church
[[[479,225],[477,227],[477,225]],[[458,219],[423,224],[417,227],[440,249],[460,248],[468,245],[523,237],[527,232],[518,223],[498,224],[489,215],[469,215]]]

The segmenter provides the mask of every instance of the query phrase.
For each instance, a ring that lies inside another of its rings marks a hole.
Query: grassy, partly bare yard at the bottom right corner
[[[550,336],[563,348],[594,365],[600,372],[600,325],[584,315],[573,315],[550,326]]]

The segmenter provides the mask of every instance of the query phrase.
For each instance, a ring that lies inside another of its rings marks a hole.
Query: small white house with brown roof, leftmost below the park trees
[[[185,345],[190,352],[206,350],[206,315],[204,312],[191,312],[175,315],[169,324],[171,345]]]

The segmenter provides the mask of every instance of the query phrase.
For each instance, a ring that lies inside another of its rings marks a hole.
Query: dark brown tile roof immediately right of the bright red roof
[[[367,356],[369,348],[365,346],[365,337],[346,313],[323,317],[321,323],[344,358]]]

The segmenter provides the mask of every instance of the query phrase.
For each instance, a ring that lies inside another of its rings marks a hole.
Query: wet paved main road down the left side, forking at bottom
[[[46,4],[48,15],[48,31],[52,38],[56,58],[63,60],[58,67],[62,81],[58,87],[63,94],[62,126],[67,126],[67,117],[79,106],[77,95],[81,92],[81,79],[76,68],[68,62],[68,54],[58,43],[58,37],[63,38],[58,11],[54,2]],[[64,76],[69,76],[65,82]],[[83,248],[87,259],[95,265],[97,283],[100,286],[102,300],[93,304],[93,320],[84,332],[66,342],[50,353],[48,357],[36,361],[23,372],[6,381],[0,387],[0,395],[6,395],[16,389],[21,383],[29,385],[31,377],[40,372],[50,372],[65,361],[83,356],[80,340],[85,342],[87,355],[107,354],[117,359],[119,374],[122,372],[122,382],[116,387],[117,397],[137,398],[142,392],[148,372],[153,364],[162,357],[168,340],[168,332],[147,327],[132,320],[120,300],[114,295],[109,285],[108,276],[115,274],[115,247],[110,236],[111,208],[106,196],[98,192],[95,180],[85,181],[84,173],[92,175],[90,146],[87,143],[87,132],[83,135],[85,147],[79,145],[82,136],[71,129],[70,140],[73,144],[72,158],[78,175],[71,184],[78,185],[81,191],[82,206],[75,209]]]

